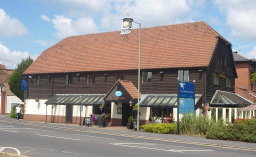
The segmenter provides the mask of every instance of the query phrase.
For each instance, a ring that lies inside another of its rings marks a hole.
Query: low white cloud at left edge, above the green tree
[[[6,46],[0,43],[0,63],[4,63],[6,68],[14,69],[22,59],[27,58],[29,55],[27,51],[10,51]],[[34,56],[30,56],[35,59]]]

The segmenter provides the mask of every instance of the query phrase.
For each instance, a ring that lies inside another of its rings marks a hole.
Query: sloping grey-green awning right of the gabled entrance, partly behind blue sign
[[[201,98],[201,94],[195,94],[195,104]],[[176,94],[153,94],[146,95],[141,102],[139,103],[141,107],[149,107],[149,106],[169,106],[176,107],[177,106],[177,95]]]

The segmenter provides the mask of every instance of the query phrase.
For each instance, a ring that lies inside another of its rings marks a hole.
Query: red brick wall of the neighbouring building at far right
[[[249,63],[235,63],[237,78],[235,78],[235,86],[244,86],[245,89],[250,90],[250,64]]]

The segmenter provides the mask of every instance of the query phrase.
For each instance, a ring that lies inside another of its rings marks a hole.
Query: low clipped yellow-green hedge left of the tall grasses
[[[141,128],[145,132],[155,132],[155,133],[176,133],[177,132],[176,123],[151,123],[147,125],[141,125]]]

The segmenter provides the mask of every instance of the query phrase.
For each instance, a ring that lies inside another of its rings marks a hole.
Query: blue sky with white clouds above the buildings
[[[205,21],[232,50],[256,57],[256,0],[0,0],[0,64],[15,68],[66,36]],[[132,28],[137,28],[136,24]]]

